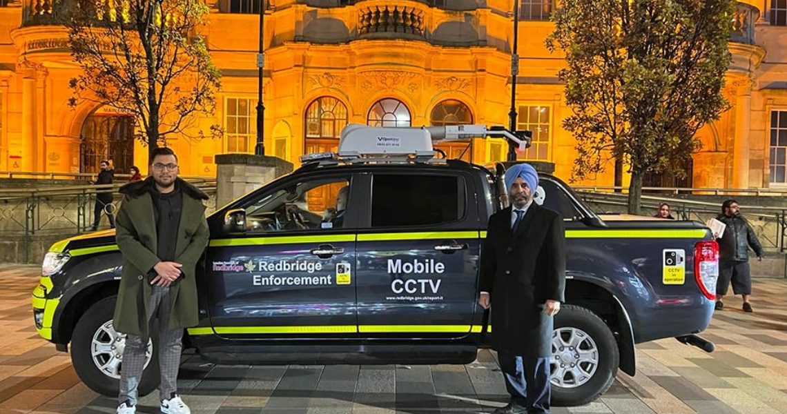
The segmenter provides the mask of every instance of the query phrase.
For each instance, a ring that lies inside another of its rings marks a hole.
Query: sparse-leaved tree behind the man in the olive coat
[[[204,137],[188,132],[195,115],[212,114],[220,87],[199,35],[208,14],[201,0],[76,0],[65,25],[83,74],[69,82],[70,105],[89,100],[133,113],[150,151],[168,135]]]

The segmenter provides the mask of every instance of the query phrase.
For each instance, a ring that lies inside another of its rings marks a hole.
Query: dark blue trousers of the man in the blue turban
[[[511,401],[527,408],[528,414],[549,414],[549,358],[524,358],[498,352],[505,388]]]

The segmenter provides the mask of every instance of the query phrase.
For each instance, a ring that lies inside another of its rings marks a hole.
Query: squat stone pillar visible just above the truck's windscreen
[[[278,157],[248,153],[216,155],[216,207],[293,171],[293,164]]]

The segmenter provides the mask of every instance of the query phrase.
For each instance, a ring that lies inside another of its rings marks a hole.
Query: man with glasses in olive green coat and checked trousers
[[[125,197],[116,237],[123,274],[113,326],[127,338],[117,414],[135,414],[153,320],[158,320],[161,412],[190,414],[177,393],[177,378],[183,328],[198,323],[194,270],[208,244],[202,205],[208,196],[178,178],[177,161],[172,150],[157,148],[151,176],[120,188]]]

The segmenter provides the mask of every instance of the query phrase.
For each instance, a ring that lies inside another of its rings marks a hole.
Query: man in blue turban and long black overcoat
[[[497,351],[511,402],[496,414],[548,414],[553,316],[565,301],[563,217],[533,202],[538,172],[505,172],[511,206],[493,214],[481,253],[478,304],[492,312]]]

